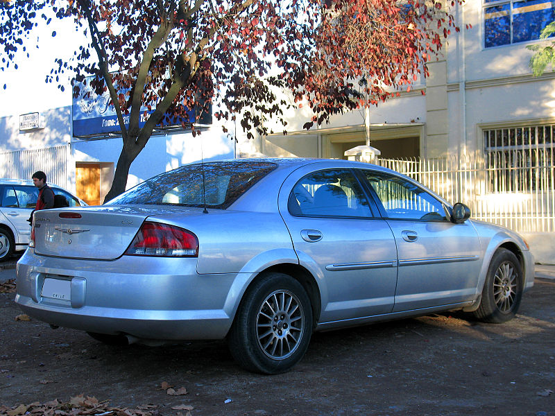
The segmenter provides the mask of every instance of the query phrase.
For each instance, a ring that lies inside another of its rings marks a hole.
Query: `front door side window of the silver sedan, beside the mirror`
[[[388,218],[447,220],[443,203],[413,182],[387,173],[364,171]]]

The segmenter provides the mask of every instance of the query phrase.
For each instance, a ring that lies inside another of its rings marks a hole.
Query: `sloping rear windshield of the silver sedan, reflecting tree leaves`
[[[277,166],[271,162],[237,161],[182,166],[151,177],[106,204],[185,207],[206,204],[225,209]]]

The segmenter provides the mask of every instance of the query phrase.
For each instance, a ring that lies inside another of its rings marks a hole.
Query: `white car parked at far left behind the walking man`
[[[65,196],[69,207],[87,205],[65,189],[46,182],[54,195]],[[0,261],[27,248],[31,226],[27,222],[37,205],[39,189],[32,180],[0,179]]]

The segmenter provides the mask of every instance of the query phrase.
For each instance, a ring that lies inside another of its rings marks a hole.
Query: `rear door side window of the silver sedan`
[[[348,169],[310,173],[289,195],[289,212],[296,216],[371,217],[368,200]]]

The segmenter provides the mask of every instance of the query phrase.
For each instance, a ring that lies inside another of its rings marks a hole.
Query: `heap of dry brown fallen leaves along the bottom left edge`
[[[185,405],[182,405],[185,406]],[[178,406],[176,406],[178,407]],[[190,410],[191,406],[187,408],[180,408],[175,410]],[[120,408],[108,406],[107,401],[99,401],[95,397],[85,397],[78,395],[71,397],[69,401],[59,401],[58,399],[47,401],[46,403],[39,403],[38,401],[32,404],[20,404],[8,408],[0,404],[0,415],[8,416],[39,416],[39,415],[56,415],[56,416],[159,416],[157,406],[153,404],[144,404],[137,406],[137,408]]]

